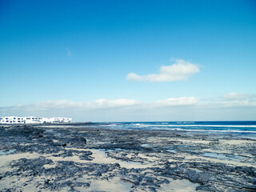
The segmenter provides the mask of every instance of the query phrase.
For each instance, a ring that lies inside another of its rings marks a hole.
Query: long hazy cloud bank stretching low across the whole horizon
[[[180,97],[153,102],[133,99],[55,100],[0,107],[0,116],[66,116],[75,121],[220,121],[255,120],[256,95],[228,93],[217,98]]]

